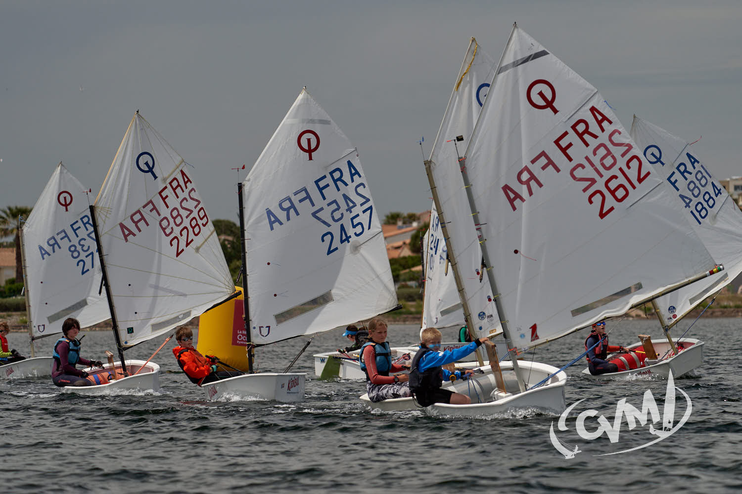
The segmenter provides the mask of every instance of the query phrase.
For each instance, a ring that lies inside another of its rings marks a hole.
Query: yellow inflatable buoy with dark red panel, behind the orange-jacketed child
[[[241,287],[234,287],[242,291]],[[215,356],[235,369],[247,372],[247,336],[243,321],[243,295],[201,314],[198,344],[201,355]],[[227,368],[220,370],[229,370]]]

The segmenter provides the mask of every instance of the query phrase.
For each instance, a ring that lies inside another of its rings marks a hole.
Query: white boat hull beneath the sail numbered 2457
[[[256,373],[204,384],[209,400],[275,400],[290,403],[304,401],[305,373]]]

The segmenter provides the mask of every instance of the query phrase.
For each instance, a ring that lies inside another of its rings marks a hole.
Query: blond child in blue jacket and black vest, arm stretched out
[[[441,384],[443,384],[444,380],[450,379],[451,374],[456,375],[457,379],[466,379],[474,371],[466,370],[462,375],[458,370],[451,373],[441,366],[469,355],[477,347],[481,346],[482,343],[487,341],[487,337],[483,336],[464,347],[456,348],[456,350],[446,350],[444,352],[440,351],[441,332],[435,327],[426,327],[422,330],[420,339],[420,350],[415,354],[413,363],[410,366],[410,390],[418,404],[421,407],[428,407],[433,403],[470,404],[471,398],[467,395],[454,393],[451,390],[441,390]]]

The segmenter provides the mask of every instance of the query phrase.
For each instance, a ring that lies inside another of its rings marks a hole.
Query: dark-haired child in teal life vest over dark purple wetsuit
[[[51,380],[59,387],[62,386],[93,386],[98,384],[88,379],[88,373],[75,366],[80,363],[88,367],[102,367],[99,360],[88,360],[80,355],[80,341],[77,334],[80,332],[80,323],[75,318],[66,318],[62,323],[62,334],[54,344],[51,364]]]

